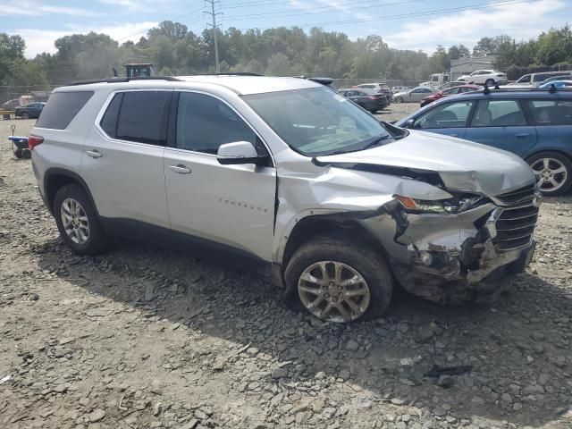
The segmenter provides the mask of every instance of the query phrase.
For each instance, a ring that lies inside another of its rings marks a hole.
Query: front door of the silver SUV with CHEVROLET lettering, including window
[[[165,148],[164,178],[172,229],[240,254],[271,260],[276,169],[223,165],[224,143],[248,141],[269,155],[250,125],[211,95],[184,91],[173,100],[176,130]]]

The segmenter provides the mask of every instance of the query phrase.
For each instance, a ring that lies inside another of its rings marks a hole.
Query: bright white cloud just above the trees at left
[[[156,27],[156,21],[128,22],[103,27],[81,27],[68,30],[51,29],[14,29],[12,34],[19,34],[26,41],[26,56],[33,58],[43,52],[55,53],[54,42],[70,34],[87,34],[90,31],[107,34],[120,44],[132,40],[138,41],[146,35],[147,29]]]

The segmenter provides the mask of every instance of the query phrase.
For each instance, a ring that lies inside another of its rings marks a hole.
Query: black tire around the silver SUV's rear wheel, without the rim
[[[80,206],[88,219],[88,238],[84,243],[77,243],[73,241],[65,231],[62,219],[62,205],[63,202],[71,198],[72,200],[80,203]],[[75,253],[80,255],[97,255],[105,251],[107,248],[108,240],[105,237],[105,232],[97,219],[97,214],[94,206],[91,204],[85,190],[77,183],[69,183],[63,185],[54,199],[54,217],[57,229],[60,231],[65,243]]]

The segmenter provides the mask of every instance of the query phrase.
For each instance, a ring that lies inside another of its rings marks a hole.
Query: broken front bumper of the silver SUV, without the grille
[[[459,303],[491,295],[530,263],[535,247],[532,230],[526,230],[528,238],[509,239],[517,248],[509,248],[511,241],[506,240],[506,234],[515,230],[501,230],[507,227],[504,219],[511,210],[486,204],[462,214],[406,214],[394,206],[388,212],[391,221],[382,215],[364,223],[382,242],[405,290],[435,302]]]

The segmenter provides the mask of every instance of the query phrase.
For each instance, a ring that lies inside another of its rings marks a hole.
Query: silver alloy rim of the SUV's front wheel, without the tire
[[[366,313],[370,290],[366,279],[353,267],[337,261],[320,261],[299,277],[299,298],[316,317],[341,323]]]

